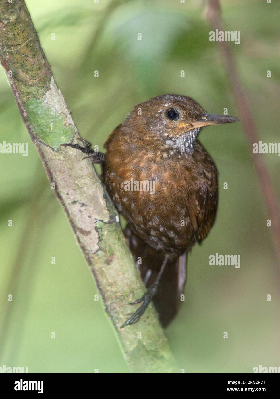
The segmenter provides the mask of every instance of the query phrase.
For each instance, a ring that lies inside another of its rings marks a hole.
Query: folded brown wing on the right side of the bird
[[[193,199],[187,205],[195,237],[200,244],[208,235],[218,206],[218,172],[208,152],[198,142],[196,146],[198,181]]]

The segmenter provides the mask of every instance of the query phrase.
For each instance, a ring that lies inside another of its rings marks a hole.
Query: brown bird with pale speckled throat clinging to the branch
[[[165,94],[134,107],[107,138],[106,154],[86,140],[85,147],[62,144],[103,164],[109,196],[127,220],[129,247],[141,259],[147,293],[132,302],[143,303],[121,328],[137,322],[151,300],[164,326],[177,312],[187,253],[207,237],[218,204],[218,172],[197,137],[204,126],[237,121]]]

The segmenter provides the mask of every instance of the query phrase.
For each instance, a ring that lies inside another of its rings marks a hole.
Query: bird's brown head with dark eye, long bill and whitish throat
[[[193,154],[201,128],[231,122],[238,119],[209,114],[190,97],[164,94],[136,105],[123,125],[154,148]]]

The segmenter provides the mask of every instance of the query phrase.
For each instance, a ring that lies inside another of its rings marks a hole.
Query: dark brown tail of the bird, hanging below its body
[[[128,227],[125,229],[125,237],[127,237],[135,264],[140,270],[141,278],[148,288],[155,281],[165,256],[147,245]],[[169,262],[161,276],[159,290],[153,302],[163,327],[176,316],[182,303],[181,295],[186,281],[186,266],[187,255],[184,254],[177,261]]]

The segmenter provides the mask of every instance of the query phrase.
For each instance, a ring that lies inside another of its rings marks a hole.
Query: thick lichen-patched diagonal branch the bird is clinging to
[[[79,134],[54,82],[24,0],[0,1],[0,60],[131,371],[179,372],[153,306],[137,324],[119,329],[131,313],[128,302],[142,296],[145,286],[115,207],[91,162],[82,161],[82,154],[74,150],[60,149],[60,144],[76,141]],[[138,338],[138,332],[142,338]]]

